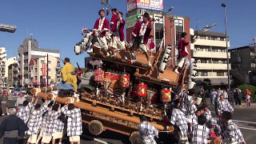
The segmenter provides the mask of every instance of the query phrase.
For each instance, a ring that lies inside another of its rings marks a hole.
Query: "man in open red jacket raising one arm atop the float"
[[[148,66],[152,66],[150,63],[150,57],[147,54],[147,44],[150,39],[150,32],[154,28],[154,20],[150,18],[150,14],[145,13],[143,15],[143,21],[137,22],[134,26],[134,31],[132,32],[132,37],[134,38],[133,46],[130,48],[131,54],[134,56],[134,50],[140,49],[142,50],[148,62]]]

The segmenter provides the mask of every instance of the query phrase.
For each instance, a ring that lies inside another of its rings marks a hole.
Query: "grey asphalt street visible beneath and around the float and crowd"
[[[16,98],[10,98],[10,106],[14,106]],[[30,99],[30,98],[27,98]],[[214,114],[214,105],[209,104],[212,115]],[[247,143],[254,143],[256,137],[256,106],[234,106],[233,121],[240,127],[242,134]],[[113,144],[128,144],[129,136],[124,134],[118,134],[110,130],[103,131],[102,134],[94,136],[90,134],[87,127],[84,127],[84,133],[82,135],[82,144],[100,144],[100,143],[113,143]],[[68,139],[64,139],[65,143],[69,143]],[[1,142],[0,142],[1,143]]]

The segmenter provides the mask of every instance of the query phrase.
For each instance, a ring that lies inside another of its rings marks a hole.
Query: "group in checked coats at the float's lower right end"
[[[246,143],[238,126],[232,122],[234,109],[227,100],[225,90],[218,91],[214,98],[218,118],[213,118],[206,104],[195,105],[195,90],[185,90],[185,87],[170,103],[170,112],[167,114],[169,126],[174,126],[172,135],[178,143]],[[142,143],[157,143],[159,131],[146,122],[144,116],[141,122],[138,130]]]

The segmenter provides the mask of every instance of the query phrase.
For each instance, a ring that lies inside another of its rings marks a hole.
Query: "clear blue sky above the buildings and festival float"
[[[256,35],[256,1],[234,0],[164,0],[164,9],[174,9],[170,14],[190,17],[190,27],[217,23],[212,29],[225,32],[224,10],[226,2],[228,34],[230,47],[246,46],[252,43]],[[81,27],[92,28],[98,10],[102,9],[100,0],[1,0],[0,23],[18,27],[14,34],[0,32],[0,46],[6,47],[7,58],[17,56],[18,46],[24,38],[33,38],[39,47],[61,50],[61,57],[69,57],[71,62],[84,66],[86,53],[74,54],[74,45],[82,39]],[[110,0],[110,5],[123,13],[126,12],[126,0]]]

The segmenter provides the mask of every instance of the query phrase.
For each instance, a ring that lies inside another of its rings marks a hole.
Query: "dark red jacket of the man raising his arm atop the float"
[[[142,27],[142,22],[137,22],[134,26],[134,34],[133,37],[138,37],[139,36],[139,31],[141,30]],[[151,28],[150,28],[150,22],[148,23],[147,27],[146,27],[146,32],[144,34],[144,39],[143,39],[143,43],[147,44],[147,42],[150,39],[150,32],[151,32]]]

